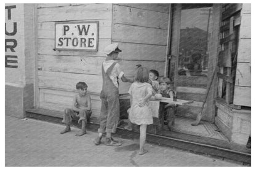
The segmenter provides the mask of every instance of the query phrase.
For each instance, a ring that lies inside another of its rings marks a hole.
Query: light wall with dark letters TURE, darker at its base
[[[34,102],[34,5],[6,4],[6,115],[23,118]]]

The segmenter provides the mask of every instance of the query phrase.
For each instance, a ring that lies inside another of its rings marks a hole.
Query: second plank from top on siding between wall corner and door
[[[113,23],[167,29],[169,14],[113,5]]]

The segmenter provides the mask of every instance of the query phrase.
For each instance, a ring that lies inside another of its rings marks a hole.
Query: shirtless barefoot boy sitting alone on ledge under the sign
[[[86,134],[86,124],[89,122],[91,111],[91,101],[90,95],[87,94],[87,84],[85,82],[78,82],[76,84],[76,90],[78,94],[73,98],[73,108],[66,108],[64,110],[62,122],[66,124],[66,128],[63,129],[60,133],[69,132],[70,125],[72,120],[78,120],[78,123],[81,122],[81,130],[76,134],[76,136],[82,136]]]

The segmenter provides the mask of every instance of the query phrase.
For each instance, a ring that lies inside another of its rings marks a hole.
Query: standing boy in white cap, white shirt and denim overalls
[[[118,43],[110,44],[104,49],[107,55],[106,60],[102,63],[102,91],[100,99],[102,106],[100,109],[100,128],[98,136],[94,139],[94,144],[99,145],[102,139],[102,134],[106,132],[105,145],[120,146],[121,142],[116,141],[111,137],[111,133],[116,133],[116,128],[119,121],[119,91],[118,79],[122,82],[133,83],[134,80],[124,77],[120,65],[114,60],[118,58],[118,53],[122,52],[118,48]]]

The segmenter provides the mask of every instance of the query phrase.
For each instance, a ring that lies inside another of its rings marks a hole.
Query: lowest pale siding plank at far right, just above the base
[[[250,87],[235,86],[234,87],[234,102],[233,102],[233,104],[236,104],[239,106],[249,106],[250,107],[251,106],[250,94],[251,94]]]

